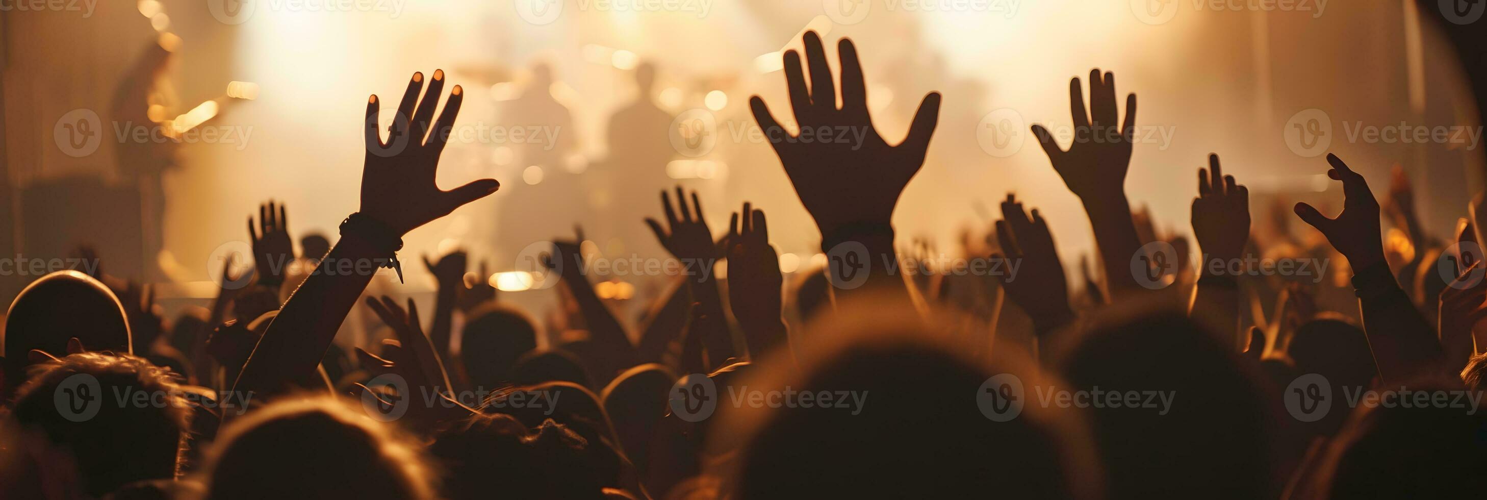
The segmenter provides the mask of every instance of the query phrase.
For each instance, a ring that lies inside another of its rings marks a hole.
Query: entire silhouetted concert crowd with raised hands
[[[1380,201],[1377,179],[1328,155],[1298,168],[1338,182],[1341,211],[1297,204],[1264,214],[1282,231],[1259,235],[1245,170],[1225,174],[1212,155],[1197,168],[1194,241],[1160,235],[1124,190],[1136,95],[1120,106],[1115,76],[1093,70],[1069,82],[1072,140],[1032,126],[1086,207],[1093,265],[1068,274],[1047,222],[1014,193],[956,265],[913,265],[940,259],[895,247],[891,220],[941,97],[923,97],[891,144],[873,126],[855,45],[839,42],[836,71],[816,33],[803,45],[804,62],[784,54],[788,107],[749,106],[821,232],[818,269],[784,278],[758,207],[718,231],[694,192],[657,186],[651,213],[663,216],[635,223],[671,253],[677,286],[638,321],[596,293],[583,234],[561,235],[570,222],[541,256],[564,305],[546,326],[500,301],[459,251],[424,262],[439,283],[431,314],[370,296],[375,275],[412,265],[399,259],[404,234],[501,195],[492,179],[436,186],[464,92],[446,91],[443,71],[415,73],[397,103],[367,98],[361,205],[333,244],[306,240],[294,254],[287,207],[271,201],[248,219],[253,272],[225,266],[207,314],[167,321],[149,287],[103,266],[16,296],[3,330],[0,497],[1483,490],[1471,478],[1487,458],[1487,280],[1472,214],[1448,240],[1432,237],[1402,173]],[[396,113],[385,134],[381,113]],[[1304,226],[1286,226],[1292,217]],[[1386,247],[1384,220],[1407,241]],[[1332,274],[1249,268],[1300,260]],[[354,308],[390,338],[336,342]],[[538,342],[544,329],[561,335]]]

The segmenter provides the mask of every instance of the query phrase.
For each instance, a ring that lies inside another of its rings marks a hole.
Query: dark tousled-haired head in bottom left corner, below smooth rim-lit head
[[[31,371],[9,424],[24,436],[27,455],[46,460],[34,464],[39,484],[61,481],[100,497],[134,481],[175,476],[192,411],[172,374],[107,353],[71,354]],[[120,403],[117,394],[149,397]]]

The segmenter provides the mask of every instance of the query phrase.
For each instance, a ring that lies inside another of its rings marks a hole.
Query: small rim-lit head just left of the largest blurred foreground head
[[[599,393],[620,446],[638,467],[647,463],[651,435],[666,417],[668,391],[675,381],[677,375],[665,365],[647,363],[625,371]]]

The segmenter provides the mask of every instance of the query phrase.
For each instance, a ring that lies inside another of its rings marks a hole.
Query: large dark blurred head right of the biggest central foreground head
[[[1120,396],[1118,408],[1090,411],[1109,499],[1273,496],[1279,424],[1261,375],[1184,311],[1115,312],[1057,363],[1091,399]]]

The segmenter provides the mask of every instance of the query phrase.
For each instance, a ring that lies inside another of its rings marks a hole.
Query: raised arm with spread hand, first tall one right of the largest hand
[[[1123,292],[1139,287],[1133,275],[1118,272],[1130,268],[1130,257],[1141,249],[1126,199],[1126,173],[1136,134],[1136,94],[1126,95],[1126,119],[1121,122],[1115,109],[1115,74],[1105,71],[1102,76],[1096,68],[1090,71],[1090,113],[1084,112],[1078,77],[1069,80],[1069,107],[1074,113],[1069,150],[1059,149],[1053,132],[1042,125],[1033,125],[1032,132],[1048,153],[1053,170],[1084,202],[1105,262],[1105,286],[1111,298],[1120,298]]]

